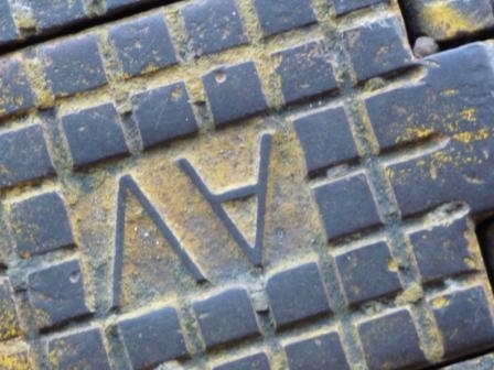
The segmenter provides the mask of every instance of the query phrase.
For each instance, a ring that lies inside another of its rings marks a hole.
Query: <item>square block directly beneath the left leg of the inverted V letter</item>
[[[117,327],[133,369],[148,369],[187,355],[179,316],[173,307],[120,319]]]

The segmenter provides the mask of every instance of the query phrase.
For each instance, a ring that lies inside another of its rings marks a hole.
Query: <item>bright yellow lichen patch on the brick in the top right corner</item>
[[[475,22],[447,1],[426,3],[419,17],[426,33],[437,40],[452,39],[476,29]]]

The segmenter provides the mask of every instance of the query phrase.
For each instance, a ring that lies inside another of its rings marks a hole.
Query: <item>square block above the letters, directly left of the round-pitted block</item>
[[[184,83],[140,92],[132,101],[144,149],[198,131]]]

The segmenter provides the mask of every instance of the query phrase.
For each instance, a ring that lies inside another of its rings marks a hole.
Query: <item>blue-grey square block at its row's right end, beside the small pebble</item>
[[[395,17],[347,30],[344,40],[358,83],[411,66],[408,41]]]

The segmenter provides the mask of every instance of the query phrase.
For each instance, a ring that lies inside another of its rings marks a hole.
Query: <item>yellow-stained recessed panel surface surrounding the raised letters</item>
[[[85,174],[84,185],[68,179],[63,189],[69,205],[74,235],[89,271],[108,271],[95,284],[111,292],[116,252],[117,204],[120,176],[130,176],[152,209],[167,224],[180,248],[213,284],[235,283],[260,273],[213,210],[179,160],[186,160],[205,186],[221,194],[258,181],[260,138],[272,135],[266,192],[262,264],[293,263],[325,244],[310,188],[305,185],[303,153],[294,131],[282,120],[253,119],[193,140],[178,140],[117,164],[108,173],[99,167]],[[103,167],[104,170],[105,167]],[[122,230],[124,312],[153,302],[172,302],[201,292],[170,238],[149,216],[149,207],[127,188]],[[121,200],[121,199],[120,199]],[[249,203],[250,200],[250,203]],[[225,204],[229,219],[253,244],[257,230],[257,197]],[[243,278],[244,276],[244,278]],[[104,283],[101,283],[104,282]],[[108,283],[107,283],[108,282]],[[108,298],[104,298],[108,300]]]

